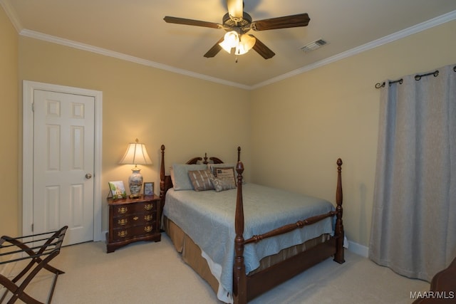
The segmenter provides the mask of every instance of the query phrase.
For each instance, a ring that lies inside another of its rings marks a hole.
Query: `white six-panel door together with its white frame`
[[[100,91],[24,80],[24,235],[101,240],[100,120]]]

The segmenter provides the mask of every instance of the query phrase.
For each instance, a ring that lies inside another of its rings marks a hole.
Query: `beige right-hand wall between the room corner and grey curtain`
[[[368,246],[380,90],[385,79],[456,63],[456,21],[252,93],[252,181],[335,201],[343,159],[344,226]]]

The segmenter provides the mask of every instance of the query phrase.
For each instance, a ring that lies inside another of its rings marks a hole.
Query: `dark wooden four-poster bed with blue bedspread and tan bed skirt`
[[[289,194],[289,192],[278,189],[274,189],[272,192],[268,187],[244,183],[242,177],[244,165],[240,161],[240,148],[238,148],[238,162],[234,165],[235,188],[222,192],[199,191],[196,188],[187,189],[187,191],[173,189],[172,179],[175,177],[172,175],[177,174],[175,171],[178,168],[174,167],[174,172],[170,169],[170,175],[166,175],[164,145],[162,145],[161,151],[160,198],[164,212],[162,226],[172,239],[177,251],[182,253],[185,262],[211,285],[220,300],[247,303],[257,295],[326,258],[333,256],[334,261],[344,262],[341,159],[337,161],[336,208],[328,201],[306,196],[305,199],[310,201],[307,209],[311,209],[311,211],[308,210],[304,214],[311,212],[311,216],[296,218],[296,216],[301,216],[298,215],[301,212],[298,208],[302,207],[298,205],[302,204],[294,204],[294,201],[296,201],[296,197],[301,199],[302,195],[297,196],[297,194]],[[225,165],[217,157],[209,157],[208,160],[205,156],[204,159],[202,157],[192,158],[185,166],[190,168],[189,170],[194,168],[199,170],[208,163],[209,167],[211,164],[214,164],[214,167]],[[202,171],[204,170],[190,172]],[[176,188],[175,185],[174,187]],[[276,199],[275,204],[263,207],[261,204],[264,203],[264,197],[261,196],[261,193]],[[280,219],[281,214],[287,213],[285,207],[288,201],[291,201],[291,205],[293,205],[290,206],[289,211],[289,214],[293,216],[284,216],[284,219]],[[321,203],[321,201],[323,202]],[[244,205],[244,202],[247,204]],[[257,205],[252,207],[250,204]],[[216,210],[219,205],[223,209],[221,214],[217,214],[219,211]],[[276,222],[269,223],[270,216],[265,209],[274,213],[273,217],[277,218]],[[234,219],[227,219],[227,224],[219,223],[219,221],[225,221],[225,218],[230,215],[234,216]],[[205,221],[209,226],[204,226]],[[257,226],[253,226],[252,222]],[[274,227],[273,229],[271,229],[271,225]],[[195,226],[197,227],[195,228]],[[328,231],[328,228],[331,231]],[[199,230],[195,231],[195,229]],[[261,232],[258,233],[258,231]],[[214,234],[217,240],[210,239],[211,234]],[[225,234],[227,241],[225,241]],[[292,243],[290,246],[289,239],[293,239],[293,242],[297,243]],[[296,239],[300,241],[296,241]],[[262,243],[265,243],[263,247],[261,247]],[[269,250],[270,248],[273,249]],[[219,253],[224,255],[217,259]],[[252,256],[257,255],[259,256],[259,266],[257,260],[252,261]],[[229,270],[227,270],[227,266],[230,267]],[[228,287],[225,277],[231,281]]]

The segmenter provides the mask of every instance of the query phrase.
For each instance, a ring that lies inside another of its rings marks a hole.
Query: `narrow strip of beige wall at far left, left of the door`
[[[0,6],[0,236],[16,236],[19,224],[18,38]]]

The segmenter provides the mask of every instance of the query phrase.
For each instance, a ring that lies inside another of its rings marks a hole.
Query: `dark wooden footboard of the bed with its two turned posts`
[[[239,149],[239,148],[238,148]],[[234,229],[236,238],[234,239],[234,266],[233,266],[233,300],[234,304],[244,304],[252,300],[257,295],[264,293],[289,278],[296,276],[302,271],[311,266],[320,263],[321,261],[334,256],[334,261],[343,263],[343,221],[342,221],[342,159],[337,160],[337,188],[336,188],[336,211],[328,212],[318,216],[312,216],[309,219],[298,221],[294,224],[281,226],[278,229],[266,232],[265,234],[253,236],[250,239],[244,239],[244,205],[242,201],[242,173],[244,172],[244,164],[238,160],[237,171],[237,201],[236,201],[236,217],[234,219]],[[247,243],[257,243],[263,239],[285,234],[295,229],[301,229],[326,219],[329,216],[336,216],[336,227],[334,237],[326,243],[321,243],[318,246],[311,248],[309,251],[304,251],[274,265],[271,268],[266,268],[264,271],[255,273],[252,276],[247,276],[244,265],[244,246]]]

